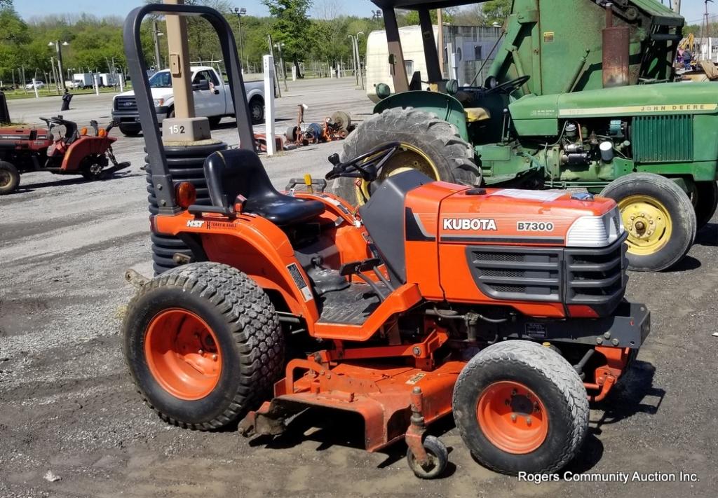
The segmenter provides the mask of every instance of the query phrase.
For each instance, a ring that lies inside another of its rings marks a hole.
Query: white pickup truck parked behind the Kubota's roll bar
[[[234,115],[234,105],[229,85],[222,83],[219,73],[209,66],[192,66],[192,90],[195,98],[195,115],[210,119],[210,127],[217,126],[224,116]],[[155,72],[149,78],[149,89],[154,100],[157,121],[174,117],[174,97],[172,95],[172,77],[169,70]],[[264,119],[264,83],[249,81],[244,83],[249,103],[252,123]],[[142,131],[134,92],[115,95],[112,100],[112,118],[125,136],[137,136]]]

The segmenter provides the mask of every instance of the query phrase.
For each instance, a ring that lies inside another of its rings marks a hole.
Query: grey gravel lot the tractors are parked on
[[[279,129],[302,102],[307,121],[340,109],[361,119],[371,110],[352,80],[297,82],[277,103]],[[73,104],[65,116],[80,123],[108,118],[106,95]],[[59,100],[9,106],[15,121],[32,121]],[[213,134],[236,143],[225,121]],[[587,446],[567,469],[676,480],[683,471],[699,481],[519,481],[475,463],[451,420],[432,428],[452,449],[449,476],[420,481],[401,444],[365,453],[352,418],[300,416],[285,436],[259,443],[235,431],[167,426],[141,403],[118,329],[133,292],[123,271],[151,273],[143,146],[141,138],[118,141],[116,156],[132,167],[112,179],[27,174],[19,192],[0,198],[0,497],[715,496],[716,218],[680,268],[630,276],[628,296],[653,313],[651,336],[620,389],[593,407]],[[323,174],[340,146],[290,151],[265,160],[266,168],[281,187],[307,171]]]

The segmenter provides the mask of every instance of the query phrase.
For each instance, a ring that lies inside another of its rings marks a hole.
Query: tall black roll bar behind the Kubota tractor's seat
[[[174,5],[174,4],[148,4],[133,9],[123,27],[123,42],[127,65],[132,77],[137,110],[139,111],[144,144],[146,146],[148,162],[151,167],[152,184],[157,194],[157,204],[160,214],[174,214],[180,207],[174,200],[174,187],[172,177],[167,168],[167,158],[164,147],[159,138],[157,115],[154,112],[152,93],[149,90],[147,67],[141,55],[142,42],[140,27],[147,14],[174,14],[178,16],[199,16],[206,19],[217,32],[222,55],[225,60],[225,69],[229,78],[229,90],[234,104],[234,113],[237,118],[239,140],[243,149],[254,151],[254,136],[252,123],[249,119],[247,95],[244,89],[244,80],[240,62],[237,59],[237,45],[234,41],[232,29],[227,19],[215,9],[205,6]]]

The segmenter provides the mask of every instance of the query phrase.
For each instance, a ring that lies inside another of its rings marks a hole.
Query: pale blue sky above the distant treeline
[[[238,7],[245,7],[248,14],[267,15],[267,9],[259,0],[230,0]],[[371,10],[376,6],[369,0],[335,0],[340,6],[341,14],[355,14],[369,17]],[[108,14],[125,16],[134,7],[143,4],[142,0],[15,0],[15,9],[25,19],[45,14],[65,14],[72,12],[88,12],[102,17]],[[333,2],[332,2],[333,3]],[[668,4],[668,0],[663,0]],[[322,0],[315,0],[314,4],[322,4]],[[703,0],[683,0],[681,13],[686,20],[700,24],[703,14]],[[708,4],[709,14],[718,14],[718,0],[715,4]]]

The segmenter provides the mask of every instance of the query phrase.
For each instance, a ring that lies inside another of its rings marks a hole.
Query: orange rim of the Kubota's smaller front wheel
[[[510,454],[531,453],[549,433],[544,403],[520,382],[502,380],[489,385],[479,395],[476,411],[486,438]]]

